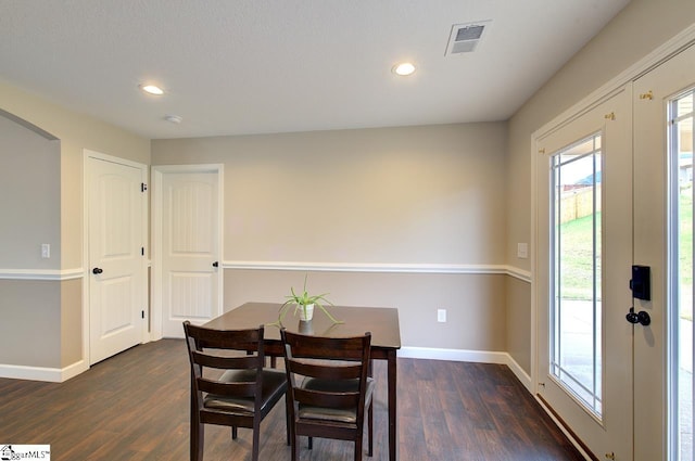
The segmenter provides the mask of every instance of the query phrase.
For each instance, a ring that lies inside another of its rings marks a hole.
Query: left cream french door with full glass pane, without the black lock
[[[631,460],[632,124],[620,91],[536,140],[538,395],[598,458]]]

